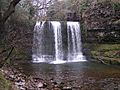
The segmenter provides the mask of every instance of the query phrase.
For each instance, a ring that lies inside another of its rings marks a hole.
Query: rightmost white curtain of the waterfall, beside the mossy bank
[[[81,33],[79,22],[67,22],[67,32],[68,32],[68,61],[70,62],[86,61],[81,51]]]

